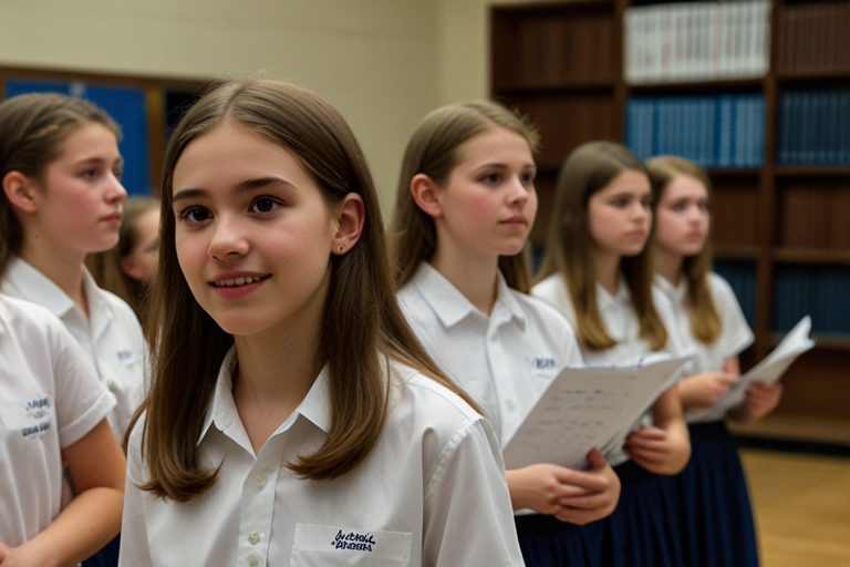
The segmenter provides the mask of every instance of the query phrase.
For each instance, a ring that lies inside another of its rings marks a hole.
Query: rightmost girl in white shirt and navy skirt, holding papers
[[[655,286],[673,308],[684,348],[695,354],[696,373],[678,384],[682,405],[707,410],[738,380],[738,354],[753,343],[753,331],[735,292],[711,270],[708,176],[675,156],[652,158],[646,168],[655,193]],[[757,420],[780,395],[780,384],[756,383],[728,414],[701,411],[688,419],[693,450],[678,477],[688,565],[758,565],[744,470],[725,419]]]

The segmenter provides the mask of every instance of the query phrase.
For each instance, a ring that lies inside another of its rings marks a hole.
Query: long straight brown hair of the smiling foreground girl
[[[294,155],[329,208],[356,193],[366,212],[360,240],[344,256],[329,260],[317,358],[328,368],[330,431],[315,453],[300,455],[288,463],[289,468],[305,478],[331,480],[366,458],[386,421],[390,359],[423,372],[477,409],[431,360],[396,303],[374,183],[344,118],[315,93],[286,82],[222,82],[180,120],[166,152],[159,265],[146,330],[153,344],[153,382],[133,421],[146,412],[142,452],[151,480],[143,488],[178,502],[189,501],[216,481],[218,471],[200,466],[197,443],[234,337],[200,308],[180,271],[173,176],[186,147],[226,121]]]

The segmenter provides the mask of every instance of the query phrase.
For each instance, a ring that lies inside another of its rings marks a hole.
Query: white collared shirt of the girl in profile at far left
[[[118,442],[133,412],[142,402],[147,350],[133,309],[117,296],[101,289],[87,270],[83,286],[90,318],[53,281],[20,258],[9,262],[2,292],[48,308],[76,339],[97,375],[115,396],[110,425]]]

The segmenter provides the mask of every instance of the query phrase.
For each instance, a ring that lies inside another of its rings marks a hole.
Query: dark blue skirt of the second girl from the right
[[[677,475],[657,475],[632,461],[614,471],[622,491],[614,513],[600,520],[605,532],[603,565],[690,566],[682,544]]]

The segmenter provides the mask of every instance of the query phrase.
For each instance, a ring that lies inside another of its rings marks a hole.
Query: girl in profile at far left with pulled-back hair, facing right
[[[142,401],[145,340],[133,310],[84,265],[118,240],[127,196],[120,136],[82,99],[39,93],[0,104],[0,291],[62,321],[115,398],[108,423],[123,440]],[[91,565],[116,565],[117,555],[115,538]]]

